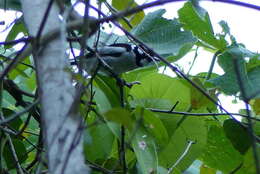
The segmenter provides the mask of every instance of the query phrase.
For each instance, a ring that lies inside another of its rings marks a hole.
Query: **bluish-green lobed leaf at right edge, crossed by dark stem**
[[[246,50],[241,46],[231,46],[218,57],[218,63],[225,71],[225,74],[211,79],[210,82],[219,87],[224,93],[228,95],[235,95],[241,90],[242,87],[238,82],[239,77],[243,83],[245,95],[247,97],[251,97],[259,91],[260,80],[258,77],[260,69],[257,67],[250,72],[247,72],[246,61],[244,58],[254,56],[254,53]],[[235,61],[237,62],[236,65]],[[237,74],[235,66],[237,66],[239,74]]]

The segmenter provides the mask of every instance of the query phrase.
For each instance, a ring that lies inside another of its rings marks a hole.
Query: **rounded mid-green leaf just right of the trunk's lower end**
[[[99,124],[87,129],[84,134],[84,153],[87,159],[95,161],[106,159],[111,153],[114,135],[106,124]]]

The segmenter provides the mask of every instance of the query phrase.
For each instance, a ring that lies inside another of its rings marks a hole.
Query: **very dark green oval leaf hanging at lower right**
[[[233,119],[228,119],[223,125],[227,138],[231,141],[234,148],[236,148],[241,154],[245,154],[251,146],[251,139],[245,128],[240,126]]]

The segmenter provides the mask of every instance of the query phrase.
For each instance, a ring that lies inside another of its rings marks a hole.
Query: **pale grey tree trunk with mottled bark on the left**
[[[49,0],[21,0],[26,26],[36,36]],[[42,34],[61,27],[59,9],[54,3]],[[62,28],[62,27],[61,27]],[[65,33],[63,33],[65,34]],[[40,51],[34,51],[34,61],[41,102],[41,122],[44,144],[51,174],[87,174],[84,164],[82,120],[78,113],[69,112],[75,88],[65,55],[66,40],[57,37]]]

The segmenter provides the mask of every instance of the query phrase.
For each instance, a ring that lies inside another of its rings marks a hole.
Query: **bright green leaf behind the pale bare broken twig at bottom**
[[[188,149],[186,155],[179,161],[176,168],[186,170],[202,153],[207,140],[207,128],[203,119],[187,117],[170,138],[169,144],[159,154],[162,166],[170,168],[185,152],[189,141],[194,144]]]

